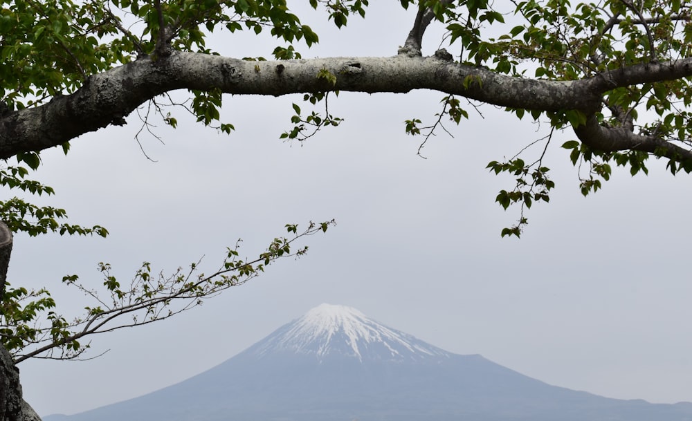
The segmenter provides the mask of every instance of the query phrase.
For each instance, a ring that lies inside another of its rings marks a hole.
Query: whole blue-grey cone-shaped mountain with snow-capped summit
[[[125,402],[44,421],[692,421],[692,404],[550,386],[322,304],[226,362]]]

